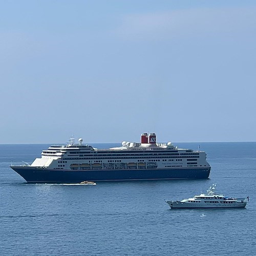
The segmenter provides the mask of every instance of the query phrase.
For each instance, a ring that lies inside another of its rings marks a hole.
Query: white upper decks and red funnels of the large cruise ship
[[[122,146],[107,150],[78,141],[50,146],[30,166],[54,170],[210,168],[205,152],[177,148],[171,142],[156,143],[154,133],[142,134],[141,143],[123,141]]]

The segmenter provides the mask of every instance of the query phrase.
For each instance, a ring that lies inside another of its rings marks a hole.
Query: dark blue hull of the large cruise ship
[[[10,166],[28,183],[80,183],[82,181],[126,181],[207,179],[210,167],[136,170],[56,170],[40,167]]]

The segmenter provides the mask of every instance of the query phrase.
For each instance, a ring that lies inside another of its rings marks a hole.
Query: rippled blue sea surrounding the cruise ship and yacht
[[[9,167],[31,163],[48,146],[0,145],[0,255],[255,255],[256,142],[200,143],[211,165],[205,180],[27,184]],[[249,196],[246,208],[170,209],[164,202],[212,183],[225,196]]]

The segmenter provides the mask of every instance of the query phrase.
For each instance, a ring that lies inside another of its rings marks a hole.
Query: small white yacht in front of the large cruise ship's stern
[[[170,208],[240,208],[245,207],[249,197],[233,198],[215,193],[216,184],[212,184],[207,190],[207,194],[201,194],[193,198],[181,201],[165,201]]]

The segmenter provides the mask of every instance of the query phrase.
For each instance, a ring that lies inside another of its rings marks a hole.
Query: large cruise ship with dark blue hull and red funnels
[[[140,143],[123,141],[109,149],[71,138],[66,145],[43,150],[32,164],[10,167],[28,183],[207,179],[211,168],[205,152],[157,143],[155,133],[143,133]]]

